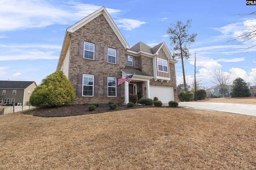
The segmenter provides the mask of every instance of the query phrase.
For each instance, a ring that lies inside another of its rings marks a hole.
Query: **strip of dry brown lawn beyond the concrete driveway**
[[[256,97],[248,97],[248,98],[208,98],[208,99],[205,99],[205,100],[198,100],[198,102],[256,104]]]

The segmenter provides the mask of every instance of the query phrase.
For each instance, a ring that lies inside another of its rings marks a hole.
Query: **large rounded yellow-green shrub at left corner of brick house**
[[[62,71],[56,71],[42,80],[30,96],[32,106],[62,106],[75,100],[70,81]]]

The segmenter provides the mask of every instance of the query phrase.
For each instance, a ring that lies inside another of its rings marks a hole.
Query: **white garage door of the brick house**
[[[150,86],[150,98],[157,97],[162,103],[168,103],[174,100],[172,87]]]

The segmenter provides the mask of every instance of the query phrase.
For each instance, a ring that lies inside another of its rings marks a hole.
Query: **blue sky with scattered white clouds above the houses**
[[[192,84],[196,51],[197,76],[205,88],[214,86],[214,68],[231,72],[253,83],[256,78],[256,49],[244,51],[254,42],[228,42],[240,35],[255,18],[241,17],[256,11],[245,0],[1,0],[0,80],[36,81],[56,71],[68,27],[105,6],[122,35],[132,47],[139,41],[150,46],[165,42],[166,31],[177,20],[192,20],[189,33],[197,33],[185,63],[186,79]],[[181,61],[176,64],[177,85],[182,83]]]

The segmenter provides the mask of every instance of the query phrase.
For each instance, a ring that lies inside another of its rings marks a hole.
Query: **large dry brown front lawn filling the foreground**
[[[256,169],[256,117],[144,108],[0,115],[0,169]]]

